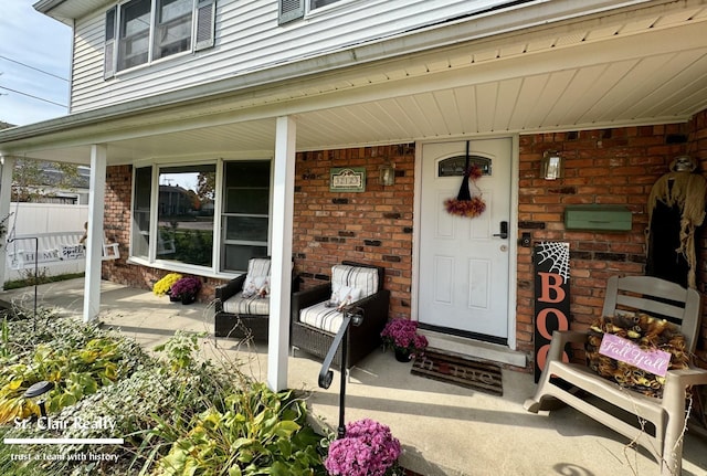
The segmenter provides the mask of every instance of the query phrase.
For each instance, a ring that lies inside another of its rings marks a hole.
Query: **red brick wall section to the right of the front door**
[[[574,328],[585,328],[601,315],[606,278],[642,275],[645,269],[647,199],[655,181],[678,155],[701,157],[707,165],[706,114],[689,124],[626,127],[520,137],[519,232],[532,241],[570,244],[570,315]],[[700,140],[698,140],[701,137]],[[696,150],[698,144],[700,150]],[[564,178],[539,177],[546,150],[566,159]],[[621,204],[633,215],[631,232],[603,233],[564,230],[568,204]],[[703,248],[707,245],[699,242]],[[521,349],[532,348],[534,277],[531,248],[520,247],[518,262],[517,335]],[[701,260],[701,283],[707,267]],[[699,278],[699,277],[698,277]],[[699,289],[703,290],[703,285]],[[707,337],[707,322],[703,337]],[[700,349],[705,349],[704,339]]]

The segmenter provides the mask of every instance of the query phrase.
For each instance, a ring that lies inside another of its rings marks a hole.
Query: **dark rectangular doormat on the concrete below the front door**
[[[425,350],[424,356],[415,359],[410,373],[494,395],[504,394],[500,367],[484,360]]]

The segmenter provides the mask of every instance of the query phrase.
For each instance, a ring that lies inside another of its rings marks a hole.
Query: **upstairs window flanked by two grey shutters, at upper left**
[[[213,46],[215,0],[130,0],[114,7],[106,12],[104,76]]]

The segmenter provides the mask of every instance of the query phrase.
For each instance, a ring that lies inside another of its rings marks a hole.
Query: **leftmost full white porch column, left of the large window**
[[[101,311],[101,265],[103,255],[103,215],[106,195],[107,147],[91,146],[88,192],[88,239],[86,240],[86,278],[84,279],[84,322]]]

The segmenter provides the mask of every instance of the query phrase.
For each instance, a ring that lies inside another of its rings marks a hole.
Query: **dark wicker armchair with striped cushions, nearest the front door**
[[[331,283],[295,293],[292,298],[292,332],[289,343],[295,349],[324,359],[334,342],[341,324],[342,313],[328,307],[333,290],[351,290],[354,296],[346,304],[349,309],[361,309],[363,321],[351,326],[348,332],[349,370],[359,360],[380,347],[380,332],[388,321],[390,292],[383,289],[384,269],[380,266],[342,262],[331,268]],[[361,296],[356,297],[358,290]],[[334,364],[341,368],[341,349],[337,350]]]

